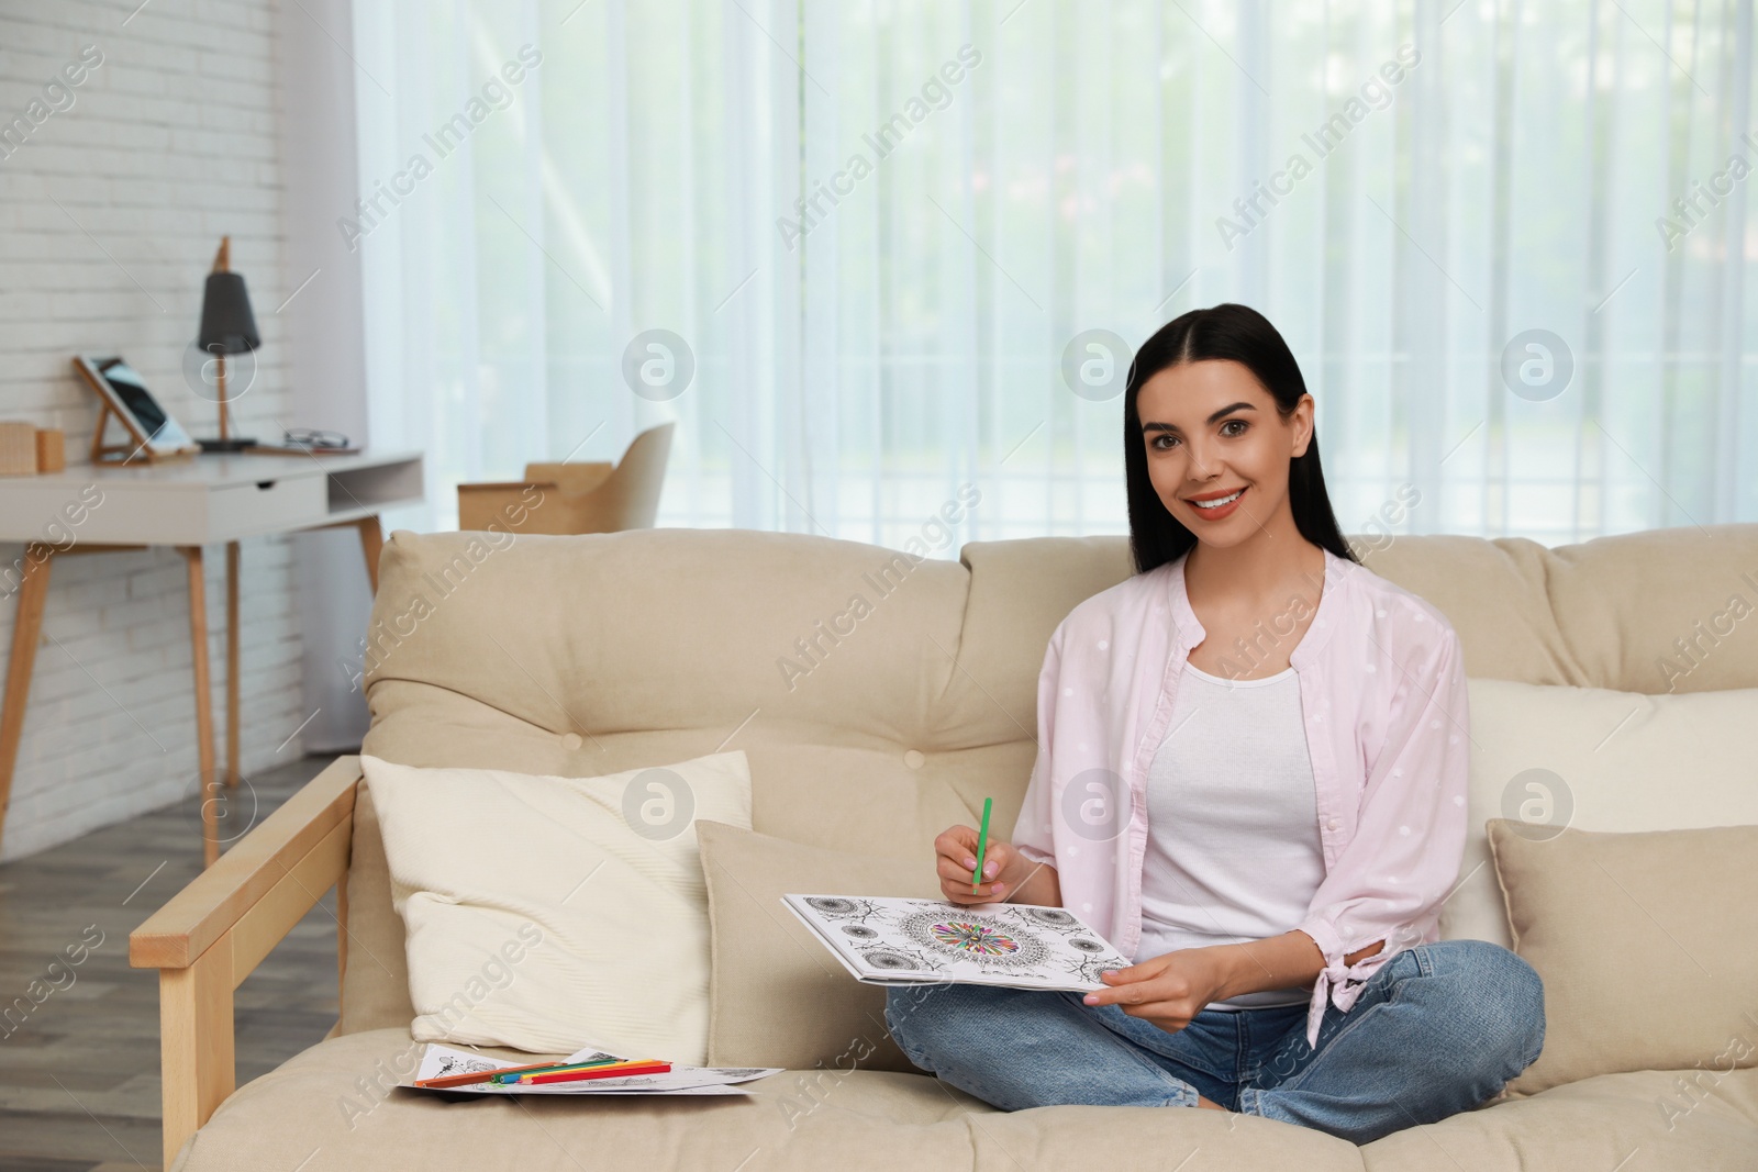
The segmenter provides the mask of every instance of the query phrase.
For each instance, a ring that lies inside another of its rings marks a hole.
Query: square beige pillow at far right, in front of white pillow
[[[1545,1038],[1508,1095],[1621,1070],[1758,1065],[1758,826],[1529,836],[1491,819]]]

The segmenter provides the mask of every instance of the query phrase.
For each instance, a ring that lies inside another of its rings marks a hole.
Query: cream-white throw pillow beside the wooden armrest
[[[707,1061],[694,821],[751,829],[744,750],[591,778],[360,766],[408,928],[415,1040]]]

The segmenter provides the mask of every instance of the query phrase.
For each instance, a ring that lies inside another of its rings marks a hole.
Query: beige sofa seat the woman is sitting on
[[[420,1049],[406,1030],[320,1042],[227,1098],[171,1172],[295,1168],[315,1151],[309,1168],[529,1172],[1050,1172],[1181,1161],[1239,1172],[1521,1172],[1616,1168],[1637,1149],[1624,1172],[1758,1165],[1758,1070],[1602,1075],[1355,1147],[1310,1128],[1217,1111],[999,1112],[939,1079],[884,1070],[788,1070],[745,1082],[751,1095],[738,1098],[459,1102],[396,1086]],[[1679,1112],[1663,1114],[1663,1103]]]

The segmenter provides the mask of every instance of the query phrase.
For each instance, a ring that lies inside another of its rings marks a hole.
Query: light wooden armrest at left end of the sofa
[[[346,966],[346,875],[359,757],[338,757],[128,935],[158,970],[165,1167],[237,1084],[232,989],[336,887]]]

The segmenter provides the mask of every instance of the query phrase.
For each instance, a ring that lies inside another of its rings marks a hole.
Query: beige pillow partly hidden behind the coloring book
[[[851,977],[781,896],[937,900],[932,850],[888,859],[716,822],[698,822],[696,838],[714,947],[708,1065],[914,1072],[886,1031],[884,989]]]

